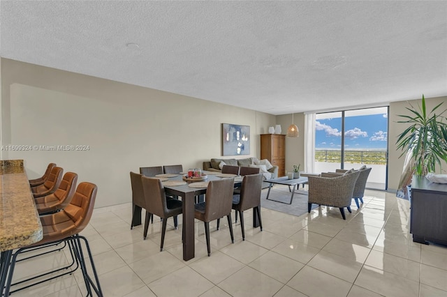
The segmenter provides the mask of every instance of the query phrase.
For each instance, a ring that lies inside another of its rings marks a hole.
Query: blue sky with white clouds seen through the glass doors
[[[386,109],[371,109],[372,114],[345,113],[345,150],[386,150],[388,113]],[[331,117],[332,116],[332,117]],[[342,145],[342,113],[317,114],[315,148],[340,150]]]

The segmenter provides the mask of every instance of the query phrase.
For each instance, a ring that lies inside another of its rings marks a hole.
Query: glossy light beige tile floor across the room
[[[226,220],[212,224],[207,257],[204,228],[196,222],[196,257],[182,260],[181,225],[168,221],[130,229],[131,204],[95,209],[82,235],[89,239],[104,296],[447,296],[447,248],[413,243],[409,201],[367,190],[346,220],[322,206],[296,217],[262,209],[263,231],[244,214],[246,240]],[[234,212],[233,212],[234,220]],[[179,222],[181,222],[179,218]],[[15,280],[66,263],[66,251],[17,264]],[[13,296],[85,296],[79,271]]]

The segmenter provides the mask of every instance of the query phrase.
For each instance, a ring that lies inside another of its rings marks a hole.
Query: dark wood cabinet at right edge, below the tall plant
[[[413,176],[410,205],[413,241],[447,245],[447,184]]]

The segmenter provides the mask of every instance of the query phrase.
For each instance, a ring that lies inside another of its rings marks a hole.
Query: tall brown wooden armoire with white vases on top
[[[278,167],[278,176],[286,176],[286,135],[261,134],[261,160]]]

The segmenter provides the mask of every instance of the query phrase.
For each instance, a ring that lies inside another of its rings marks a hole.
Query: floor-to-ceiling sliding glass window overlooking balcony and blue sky
[[[367,187],[386,190],[388,107],[316,114],[315,172],[372,167]]]

